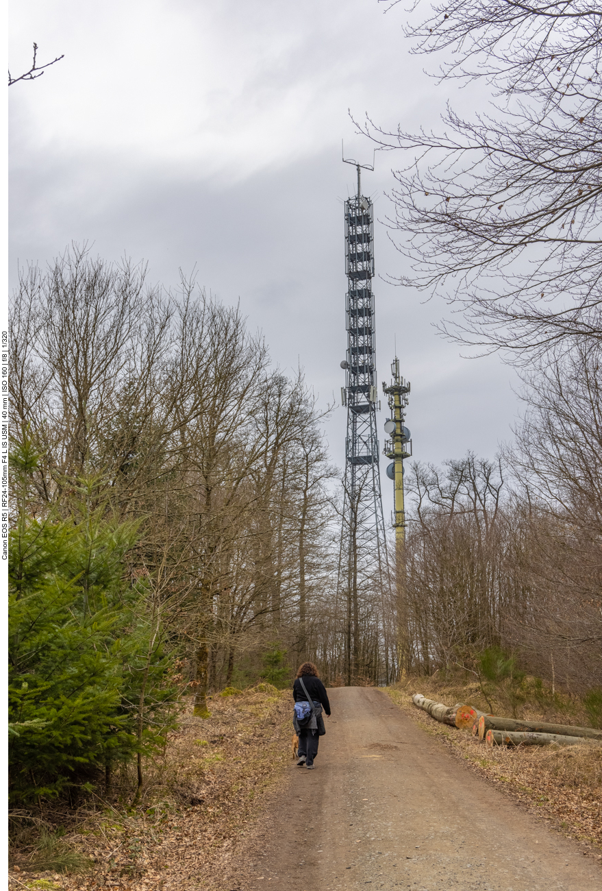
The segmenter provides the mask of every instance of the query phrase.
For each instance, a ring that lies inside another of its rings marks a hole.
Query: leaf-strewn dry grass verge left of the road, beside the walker
[[[147,765],[135,811],[125,804],[134,796],[134,778],[124,777],[121,801],[96,799],[75,814],[45,814],[46,822],[62,819],[67,833],[61,841],[91,858],[93,871],[85,877],[34,872],[28,868],[31,842],[13,848],[10,887],[208,887],[258,800],[284,772],[290,757],[290,701],[289,691],[260,684],[242,695],[213,697],[207,719],[194,717],[186,704],[165,758]]]

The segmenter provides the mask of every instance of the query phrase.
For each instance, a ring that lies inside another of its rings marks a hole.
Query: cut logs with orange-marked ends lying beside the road
[[[542,721],[518,721],[516,718],[499,718],[487,715],[472,706],[457,703],[444,706],[443,702],[425,699],[422,693],[414,693],[412,701],[435,721],[450,724],[460,730],[468,730],[488,746],[573,746],[583,740],[602,742],[602,730],[592,727],[572,727],[569,724]]]

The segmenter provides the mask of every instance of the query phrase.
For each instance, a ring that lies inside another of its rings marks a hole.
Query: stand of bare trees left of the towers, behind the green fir
[[[241,653],[305,646],[331,470],[303,374],[272,371],[239,310],[194,282],[164,291],[77,246],[21,271],[11,325],[14,439],[40,456],[31,510],[70,517],[94,479],[89,509],[134,521],[132,571],[166,580],[157,617],[182,601],[170,636],[198,713]]]

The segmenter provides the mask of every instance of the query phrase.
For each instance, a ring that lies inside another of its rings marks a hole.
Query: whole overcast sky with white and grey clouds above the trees
[[[225,303],[240,300],[273,363],[301,364],[325,403],[333,459],[344,461],[343,204],[346,154],[370,162],[350,108],[386,126],[437,127],[450,97],[409,54],[403,4],[377,0],[23,0],[11,9],[13,76],[65,58],[10,88],[10,273],[45,264],[70,241],[145,259],[150,279],[178,269]],[[484,97],[452,102],[470,110]],[[378,275],[405,260],[387,237],[394,152],[378,154],[362,191],[375,201]],[[492,457],[511,436],[516,380],[497,357],[466,359],[433,328],[445,307],[373,282],[378,380],[396,338],[411,380],[414,456],[442,462],[468,449]],[[379,426],[385,412],[379,416]],[[384,439],[384,434],[381,433]],[[386,461],[383,463],[383,467]],[[388,514],[390,484],[385,485]]]

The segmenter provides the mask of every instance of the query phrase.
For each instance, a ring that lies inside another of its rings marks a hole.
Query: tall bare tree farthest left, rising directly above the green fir
[[[18,435],[43,455],[46,501],[83,472],[102,472],[117,499],[147,485],[180,422],[185,381],[159,384],[172,315],[173,301],[147,287],[143,267],[111,266],[85,247],[45,274],[21,272],[9,318],[12,408]]]

